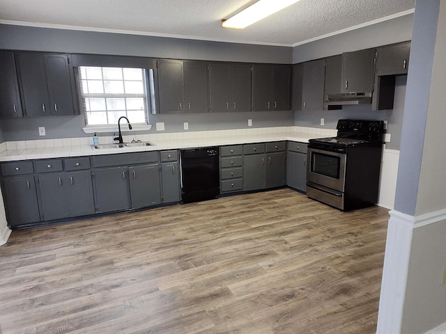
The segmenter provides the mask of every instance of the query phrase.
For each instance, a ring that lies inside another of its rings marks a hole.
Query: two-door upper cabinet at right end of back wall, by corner
[[[252,66],[252,110],[291,109],[291,66]]]

